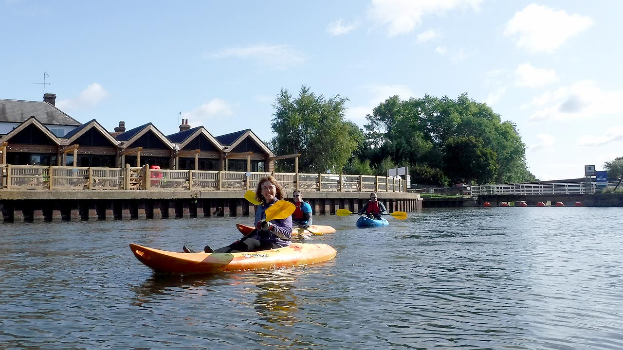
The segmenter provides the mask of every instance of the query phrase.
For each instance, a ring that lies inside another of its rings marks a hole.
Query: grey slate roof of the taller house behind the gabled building
[[[0,121],[23,123],[35,116],[45,125],[80,126],[82,123],[47,102],[6,100],[0,98]]]

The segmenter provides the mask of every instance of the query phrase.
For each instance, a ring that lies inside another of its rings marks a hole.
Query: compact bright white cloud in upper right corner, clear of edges
[[[590,17],[531,4],[506,23],[504,35],[514,37],[517,47],[529,52],[551,53],[591,26]]]

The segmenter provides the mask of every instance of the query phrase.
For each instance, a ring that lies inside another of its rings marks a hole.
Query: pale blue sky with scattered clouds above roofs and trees
[[[268,143],[281,89],[346,97],[361,127],[393,95],[467,93],[516,125],[538,179],[570,179],[623,156],[621,13],[615,0],[0,0],[0,98],[45,88],[109,131],[170,135],[188,119]]]

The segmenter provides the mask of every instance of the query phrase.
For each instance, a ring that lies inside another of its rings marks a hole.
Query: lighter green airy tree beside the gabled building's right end
[[[300,153],[301,173],[340,173],[363,142],[363,131],[345,120],[348,98],[325,100],[303,85],[299,96],[293,98],[283,89],[277,95],[271,141],[275,154]],[[294,171],[293,161],[278,163],[279,171]]]

